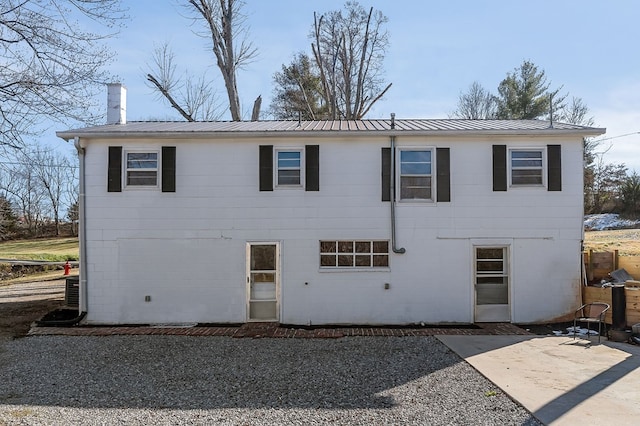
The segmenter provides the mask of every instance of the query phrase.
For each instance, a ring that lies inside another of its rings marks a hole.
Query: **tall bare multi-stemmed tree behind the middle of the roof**
[[[391,87],[382,78],[386,22],[382,12],[357,2],[347,2],[344,12],[314,14],[311,49],[333,119],[363,118]]]

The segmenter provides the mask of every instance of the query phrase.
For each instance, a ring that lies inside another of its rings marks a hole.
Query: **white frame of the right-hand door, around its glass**
[[[506,263],[506,275],[507,275],[507,304],[496,305],[478,305],[478,289],[476,285],[476,256],[478,248],[496,248],[504,250],[504,262]],[[471,289],[473,292],[473,321],[474,322],[511,322],[513,318],[513,273],[512,273],[512,242],[506,241],[482,241],[472,242],[471,244],[471,259],[472,259],[472,274],[471,274]]]

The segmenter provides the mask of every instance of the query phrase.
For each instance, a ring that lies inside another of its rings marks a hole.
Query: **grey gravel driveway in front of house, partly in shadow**
[[[0,425],[537,425],[434,337],[0,341]]]

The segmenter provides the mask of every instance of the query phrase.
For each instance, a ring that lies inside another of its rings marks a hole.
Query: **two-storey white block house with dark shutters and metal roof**
[[[58,133],[80,155],[86,323],[532,323],[579,306],[582,141],[604,129],[112,121]]]

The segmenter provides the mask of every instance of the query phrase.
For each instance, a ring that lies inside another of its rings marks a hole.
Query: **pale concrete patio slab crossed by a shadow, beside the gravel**
[[[640,347],[567,336],[438,336],[548,425],[640,422]]]

